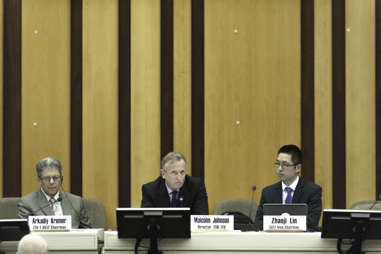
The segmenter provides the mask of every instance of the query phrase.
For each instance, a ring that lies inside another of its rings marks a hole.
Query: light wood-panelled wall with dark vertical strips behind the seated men
[[[65,190],[101,200],[114,228],[175,150],[213,214],[252,185],[259,203],[295,144],[324,208],[374,200],[380,14],[381,0],[0,0],[0,197],[37,189],[36,163],[57,157]]]

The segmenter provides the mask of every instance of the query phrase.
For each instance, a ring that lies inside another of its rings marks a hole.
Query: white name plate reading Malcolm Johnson
[[[233,231],[232,215],[191,215],[191,231]]]

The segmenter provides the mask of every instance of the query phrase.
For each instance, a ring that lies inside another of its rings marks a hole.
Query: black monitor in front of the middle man
[[[117,226],[118,238],[149,238],[157,253],[158,238],[191,238],[191,209],[117,208]]]

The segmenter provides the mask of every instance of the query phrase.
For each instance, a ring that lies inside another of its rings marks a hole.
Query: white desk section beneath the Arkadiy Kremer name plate
[[[32,232],[46,240],[49,253],[54,254],[98,254],[102,249],[104,229],[72,229],[70,232]],[[18,241],[0,243],[0,253],[14,254],[17,252]]]

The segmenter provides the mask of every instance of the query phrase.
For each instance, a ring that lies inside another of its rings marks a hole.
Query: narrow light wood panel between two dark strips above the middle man
[[[191,1],[173,1],[173,150],[191,175]]]

